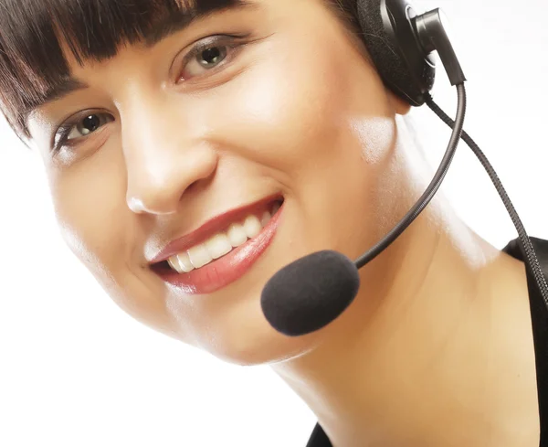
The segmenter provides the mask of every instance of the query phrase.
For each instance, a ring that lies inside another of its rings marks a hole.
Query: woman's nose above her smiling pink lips
[[[193,134],[182,116],[149,108],[139,113],[140,119],[133,118],[126,120],[121,135],[127,205],[139,214],[174,214],[190,186],[214,174],[217,153],[203,137]]]

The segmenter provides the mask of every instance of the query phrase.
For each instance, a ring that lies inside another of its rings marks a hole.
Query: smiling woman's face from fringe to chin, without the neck
[[[63,235],[116,303],[240,364],[314,343],[276,333],[261,290],[306,254],[378,238],[406,112],[320,0],[252,4],[72,63],[83,88],[29,121]],[[170,255],[192,271],[156,262]]]

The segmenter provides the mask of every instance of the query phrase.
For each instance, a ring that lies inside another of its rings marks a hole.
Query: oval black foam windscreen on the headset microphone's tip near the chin
[[[353,261],[322,250],[278,271],[264,287],[260,303],[269,324],[280,333],[305,335],[342,314],[359,287]]]

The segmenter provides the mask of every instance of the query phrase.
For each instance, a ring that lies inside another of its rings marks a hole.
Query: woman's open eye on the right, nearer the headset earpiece
[[[227,38],[227,36],[213,36],[198,42],[184,58],[178,81],[199,77],[232,58],[241,44],[227,43]]]

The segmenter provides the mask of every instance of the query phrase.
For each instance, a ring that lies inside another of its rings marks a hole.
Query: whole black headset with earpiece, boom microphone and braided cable
[[[411,105],[420,106],[426,102],[453,132],[446,154],[425,193],[373,248],[355,261],[332,250],[312,253],[270,278],[261,294],[262,311],[269,324],[284,335],[305,335],[330,324],[342,314],[358,292],[358,269],[385,250],[427,207],[448,172],[460,138],[478,156],[497,188],[518,230],[524,260],[548,305],[548,285],[531,239],[489,161],[462,130],[466,113],[466,79],[448,37],[445,17],[439,9],[417,16],[407,0],[358,0],[356,7],[362,38],[385,85]],[[457,86],[455,122],[441,111],[429,94],[435,79],[433,51],[437,51],[451,85]]]

